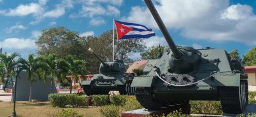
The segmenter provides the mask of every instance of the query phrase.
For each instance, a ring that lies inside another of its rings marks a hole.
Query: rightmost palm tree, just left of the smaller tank
[[[67,55],[65,59],[68,63],[68,73],[71,74],[70,93],[72,93],[72,77],[79,79],[79,75],[84,75],[85,65],[82,60],[74,59],[71,55]]]

